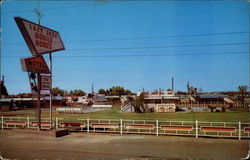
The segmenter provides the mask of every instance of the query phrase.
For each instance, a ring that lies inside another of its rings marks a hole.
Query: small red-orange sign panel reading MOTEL
[[[22,70],[25,72],[50,74],[50,70],[42,56],[22,58]]]

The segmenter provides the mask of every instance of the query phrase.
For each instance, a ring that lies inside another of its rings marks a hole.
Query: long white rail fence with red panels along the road
[[[50,128],[49,118],[42,118],[42,128]],[[198,137],[250,138],[250,123],[159,121],[127,119],[65,119],[53,118],[52,127],[83,132],[107,132],[118,134],[181,135]],[[1,117],[1,129],[37,128],[33,117]]]

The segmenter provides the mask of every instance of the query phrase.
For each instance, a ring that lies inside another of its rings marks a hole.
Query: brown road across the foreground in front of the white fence
[[[60,138],[4,130],[1,155],[10,159],[239,159],[248,140],[72,133]]]

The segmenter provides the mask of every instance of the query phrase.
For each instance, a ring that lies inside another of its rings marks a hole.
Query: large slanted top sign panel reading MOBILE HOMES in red
[[[32,55],[38,56],[65,49],[57,31],[30,22],[21,17],[15,17],[14,19]]]

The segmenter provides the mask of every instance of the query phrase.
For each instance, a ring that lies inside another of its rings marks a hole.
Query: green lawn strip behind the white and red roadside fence
[[[35,117],[35,114],[22,116]],[[42,113],[42,118],[48,118],[49,113]],[[247,108],[236,109],[234,112],[188,112],[188,113],[121,113],[120,108],[108,111],[99,111],[84,114],[58,114],[53,117],[66,119],[133,119],[133,120],[162,120],[162,121],[210,121],[210,122],[249,122],[249,110]]]

